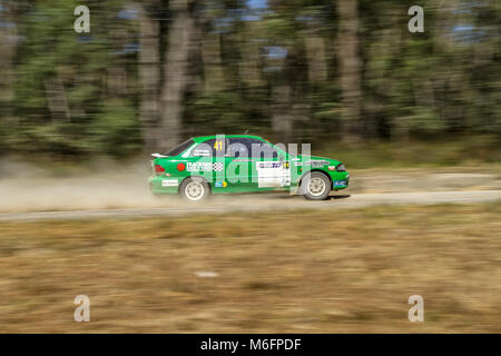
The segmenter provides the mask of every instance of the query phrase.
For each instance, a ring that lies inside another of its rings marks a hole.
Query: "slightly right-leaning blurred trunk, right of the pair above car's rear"
[[[175,0],[170,6],[174,19],[168,33],[164,63],[164,87],[160,96],[158,147],[168,149],[181,138],[183,97],[188,85],[188,58],[194,40],[195,21],[188,0]]]

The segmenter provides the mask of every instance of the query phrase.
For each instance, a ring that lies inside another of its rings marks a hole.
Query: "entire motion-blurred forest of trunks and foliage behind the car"
[[[73,29],[80,4],[89,33]],[[407,29],[414,4],[422,33]],[[0,0],[0,155],[78,162],[249,130],[358,149],[355,165],[413,145],[410,161],[499,161],[500,11],[494,0]]]

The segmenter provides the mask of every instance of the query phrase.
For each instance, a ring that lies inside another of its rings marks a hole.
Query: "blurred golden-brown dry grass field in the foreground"
[[[0,224],[0,332],[500,333],[500,206]]]

